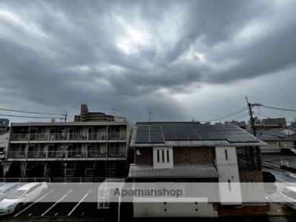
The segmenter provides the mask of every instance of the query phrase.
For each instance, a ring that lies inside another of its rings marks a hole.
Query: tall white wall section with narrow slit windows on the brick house
[[[240,205],[242,203],[242,195],[236,147],[216,146],[215,153],[216,167],[220,175],[218,178],[220,202],[225,205]]]

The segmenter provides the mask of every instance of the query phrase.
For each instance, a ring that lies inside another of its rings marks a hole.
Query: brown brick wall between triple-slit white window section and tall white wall
[[[214,164],[214,147],[174,148],[174,164]]]

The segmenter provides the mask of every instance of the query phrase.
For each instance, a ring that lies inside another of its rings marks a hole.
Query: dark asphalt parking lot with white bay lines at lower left
[[[98,186],[76,186],[65,184],[48,184],[47,191],[26,203],[22,210],[8,215],[6,219],[23,219],[24,217],[92,217],[97,212]]]

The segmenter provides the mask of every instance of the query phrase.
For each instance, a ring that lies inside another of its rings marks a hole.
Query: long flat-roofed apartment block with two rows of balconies
[[[125,121],[12,123],[6,161],[27,177],[122,176],[131,130]]]

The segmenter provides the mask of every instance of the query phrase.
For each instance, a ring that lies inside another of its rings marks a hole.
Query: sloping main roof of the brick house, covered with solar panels
[[[258,146],[257,137],[235,125],[137,122],[130,146]]]

